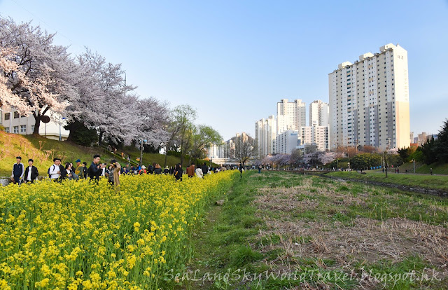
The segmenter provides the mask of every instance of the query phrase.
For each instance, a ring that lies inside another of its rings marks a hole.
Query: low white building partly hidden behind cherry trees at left
[[[36,120],[34,120],[34,116],[32,114],[29,116],[22,116],[18,111],[15,111],[14,108],[8,109],[6,106],[0,107],[0,113],[0,125],[5,127],[5,132],[22,135],[33,134]],[[57,115],[53,113],[53,117],[54,116]],[[47,137],[48,139],[59,140],[60,127],[62,140],[66,140],[69,137],[70,131],[65,130],[64,125],[66,125],[64,120],[61,120],[61,126],[59,126],[59,123],[56,123],[55,120],[50,118],[50,123],[46,124],[46,132],[45,123],[41,122],[39,134],[43,137]]]

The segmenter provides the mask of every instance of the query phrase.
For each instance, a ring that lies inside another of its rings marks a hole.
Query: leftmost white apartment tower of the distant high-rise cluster
[[[258,146],[258,156],[260,158],[276,151],[276,120],[275,116],[262,118],[255,122],[255,144]]]

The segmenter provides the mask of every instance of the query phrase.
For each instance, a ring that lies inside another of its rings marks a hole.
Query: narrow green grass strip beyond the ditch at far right
[[[347,179],[359,179],[365,181],[378,181],[388,184],[398,184],[409,187],[421,187],[437,189],[441,191],[448,191],[448,177],[446,176],[431,176],[431,175],[418,175],[418,174],[395,174],[388,172],[388,177],[382,172],[366,172],[360,174],[358,172],[330,172],[331,177],[347,178]]]

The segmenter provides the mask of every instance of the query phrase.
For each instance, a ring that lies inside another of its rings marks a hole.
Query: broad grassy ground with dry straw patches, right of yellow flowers
[[[172,288],[442,289],[447,221],[438,197],[248,172],[211,207]]]

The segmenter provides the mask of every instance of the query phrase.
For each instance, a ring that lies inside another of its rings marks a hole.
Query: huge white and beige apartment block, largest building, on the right
[[[330,149],[409,146],[407,51],[398,44],[379,50],[328,74]]]

